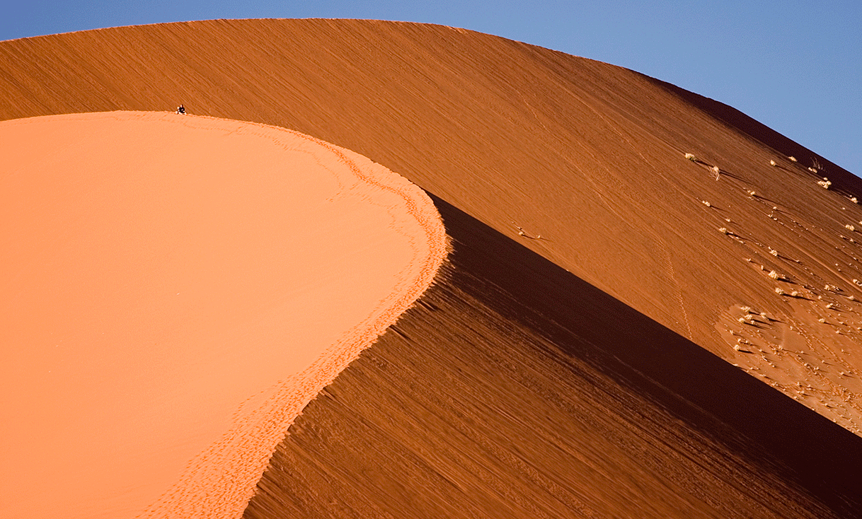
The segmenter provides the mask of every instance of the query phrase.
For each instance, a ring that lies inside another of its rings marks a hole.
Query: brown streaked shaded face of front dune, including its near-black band
[[[436,203],[442,279],[303,411],[247,519],[862,513],[858,437]]]

